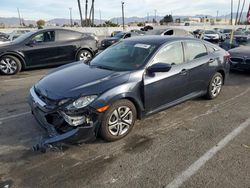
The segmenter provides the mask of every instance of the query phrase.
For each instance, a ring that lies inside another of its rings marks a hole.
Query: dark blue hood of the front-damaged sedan
[[[58,68],[42,78],[35,90],[51,100],[99,95],[126,82],[129,72],[90,67],[82,62]]]

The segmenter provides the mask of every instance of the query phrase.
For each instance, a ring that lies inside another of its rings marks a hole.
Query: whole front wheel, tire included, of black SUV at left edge
[[[0,58],[0,73],[14,75],[20,72],[22,64],[18,58],[12,55],[4,55]]]

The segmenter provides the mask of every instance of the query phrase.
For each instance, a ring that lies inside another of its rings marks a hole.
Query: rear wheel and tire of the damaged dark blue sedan
[[[206,97],[207,99],[215,99],[219,96],[223,85],[223,76],[221,73],[217,72],[212,77],[208,89]]]

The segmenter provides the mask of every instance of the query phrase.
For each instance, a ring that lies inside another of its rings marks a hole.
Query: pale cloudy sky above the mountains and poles
[[[89,7],[90,7],[89,0]],[[246,0],[247,11],[250,0]],[[164,16],[173,15],[196,15],[208,14],[216,16],[230,13],[230,0],[124,0],[125,16],[146,17],[147,13]],[[234,0],[234,11],[237,10],[238,0]],[[81,0],[84,15],[85,0]],[[17,7],[20,9],[24,19],[53,19],[69,18],[69,7],[73,10],[73,19],[79,19],[77,0],[1,0],[0,17],[17,17]],[[95,0],[95,14],[99,19],[99,10],[102,19],[121,16],[120,0]]]

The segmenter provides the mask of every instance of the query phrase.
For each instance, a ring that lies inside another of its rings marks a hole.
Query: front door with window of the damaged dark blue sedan
[[[169,72],[144,75],[144,103],[147,112],[155,111],[187,95],[188,70],[184,60],[182,42],[161,48],[152,64],[168,63]],[[151,64],[151,65],[152,65]]]

